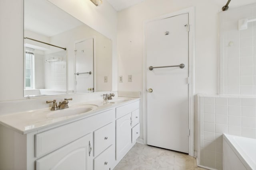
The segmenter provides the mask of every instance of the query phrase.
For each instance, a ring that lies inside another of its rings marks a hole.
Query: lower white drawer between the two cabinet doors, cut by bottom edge
[[[94,158],[94,170],[110,170],[115,160],[115,150],[113,145]]]

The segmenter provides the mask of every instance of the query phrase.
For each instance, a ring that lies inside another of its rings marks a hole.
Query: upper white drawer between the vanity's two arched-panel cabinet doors
[[[94,131],[94,156],[97,156],[114,143],[114,133],[115,126],[113,122]]]

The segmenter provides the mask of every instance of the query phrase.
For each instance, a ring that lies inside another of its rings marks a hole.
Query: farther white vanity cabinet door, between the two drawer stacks
[[[116,120],[116,160],[128,152],[132,143],[131,116],[129,113]]]

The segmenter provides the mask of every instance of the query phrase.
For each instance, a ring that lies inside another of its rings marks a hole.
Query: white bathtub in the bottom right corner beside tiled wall
[[[256,139],[223,134],[223,170],[256,170]]]

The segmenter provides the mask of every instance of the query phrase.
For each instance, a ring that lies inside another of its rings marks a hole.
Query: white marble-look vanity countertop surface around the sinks
[[[48,115],[53,115],[55,113],[60,113],[62,110],[51,111],[50,108],[46,109],[38,109],[31,110],[25,112],[18,112],[8,115],[0,116],[0,124],[17,131],[21,134],[30,133],[33,131],[38,131],[40,129],[46,127],[54,127],[56,125],[62,125],[66,123],[70,123],[72,121],[77,121],[79,119],[84,119],[85,117],[90,117],[94,114],[100,113],[105,110],[113,109],[115,107],[121,106],[123,104],[128,104],[131,102],[135,102],[140,98],[113,98],[114,100],[104,101],[102,100],[94,100],[83,102],[79,104],[72,105],[69,102],[69,108],[62,109],[63,111],[72,111],[78,106],[82,106],[83,104],[91,104],[97,105],[98,108],[88,111],[86,113],[80,113],[76,115],[62,116],[62,117],[49,117]],[[125,99],[125,100],[123,100]]]

